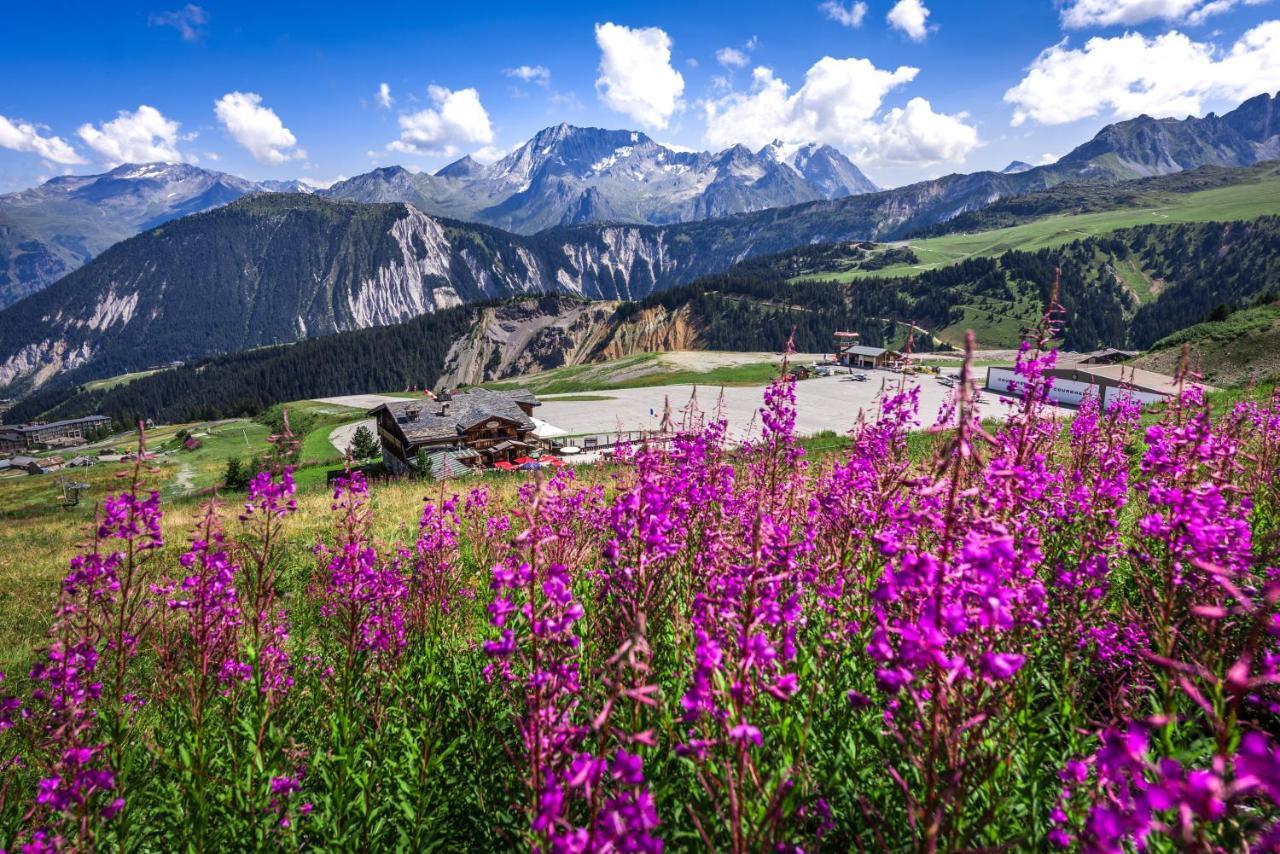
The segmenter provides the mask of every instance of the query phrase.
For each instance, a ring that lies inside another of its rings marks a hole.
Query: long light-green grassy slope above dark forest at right
[[[1055,215],[1010,228],[910,241],[910,247],[920,259],[919,264],[899,264],[882,270],[815,273],[801,278],[835,278],[849,282],[869,275],[915,275],[922,270],[932,270],[970,257],[993,256],[1009,250],[1036,251],[1062,246],[1134,225],[1228,222],[1256,219],[1270,214],[1280,214],[1280,175],[1275,174],[1248,184],[1217,187],[1196,193],[1167,193],[1157,197],[1149,207]],[[1121,271],[1121,275],[1139,296],[1149,292],[1149,282],[1138,282],[1125,271]]]

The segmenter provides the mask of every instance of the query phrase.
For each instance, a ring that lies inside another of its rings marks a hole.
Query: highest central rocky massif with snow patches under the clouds
[[[488,165],[466,156],[435,174],[388,166],[321,195],[403,201],[529,234],[586,222],[681,223],[876,189],[831,146],[676,151],[637,131],[559,124]]]

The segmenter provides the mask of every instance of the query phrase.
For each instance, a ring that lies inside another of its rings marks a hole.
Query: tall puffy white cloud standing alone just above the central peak
[[[600,76],[595,92],[609,108],[640,124],[664,129],[680,109],[685,78],[671,67],[671,37],[657,27],[595,26]]]

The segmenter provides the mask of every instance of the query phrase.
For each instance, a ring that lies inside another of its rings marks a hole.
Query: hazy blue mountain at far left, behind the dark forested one
[[[125,164],[97,175],[61,175],[0,196],[0,307],[35,293],[138,232],[265,189],[184,163]]]

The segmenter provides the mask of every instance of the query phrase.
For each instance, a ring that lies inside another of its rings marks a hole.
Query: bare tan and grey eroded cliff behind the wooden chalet
[[[622,306],[543,297],[483,309],[449,348],[439,384],[475,385],[566,365],[698,348],[687,303],[675,311]]]

